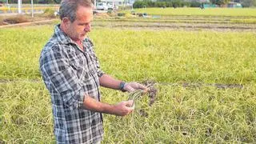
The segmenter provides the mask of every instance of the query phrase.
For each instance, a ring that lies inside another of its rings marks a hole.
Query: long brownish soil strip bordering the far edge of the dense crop
[[[177,22],[94,22],[93,26],[133,30],[214,30],[256,32],[256,24]]]

